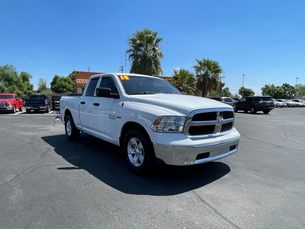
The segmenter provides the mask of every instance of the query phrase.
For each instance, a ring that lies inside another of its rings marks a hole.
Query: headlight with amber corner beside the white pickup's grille
[[[151,129],[155,132],[182,133],[186,117],[159,117],[152,124]]]

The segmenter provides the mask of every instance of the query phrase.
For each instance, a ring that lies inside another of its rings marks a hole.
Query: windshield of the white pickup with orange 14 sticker
[[[128,95],[156,93],[171,93],[181,95],[181,92],[173,85],[157,77],[133,75],[119,75],[119,77],[121,79],[125,92]]]

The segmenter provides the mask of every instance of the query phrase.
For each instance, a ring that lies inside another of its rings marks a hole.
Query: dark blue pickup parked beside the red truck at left
[[[27,113],[30,113],[31,110],[34,110],[34,112],[44,110],[49,113],[52,107],[52,101],[47,94],[31,94],[25,100],[24,107]]]

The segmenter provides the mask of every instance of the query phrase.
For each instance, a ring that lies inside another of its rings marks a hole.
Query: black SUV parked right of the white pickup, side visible
[[[274,108],[274,102],[271,96],[248,96],[242,97],[238,103],[235,103],[236,112],[244,111],[255,114],[257,111],[263,111],[268,114]]]

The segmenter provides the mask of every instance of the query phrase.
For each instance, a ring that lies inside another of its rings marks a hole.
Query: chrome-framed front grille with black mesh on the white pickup
[[[190,138],[198,138],[230,133],[234,125],[234,116],[231,108],[192,111],[186,122],[184,134]]]

